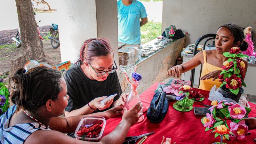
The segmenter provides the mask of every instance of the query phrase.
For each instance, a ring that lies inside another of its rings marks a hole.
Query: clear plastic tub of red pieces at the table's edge
[[[78,124],[75,137],[85,141],[100,141],[106,120],[101,116],[84,116]]]

